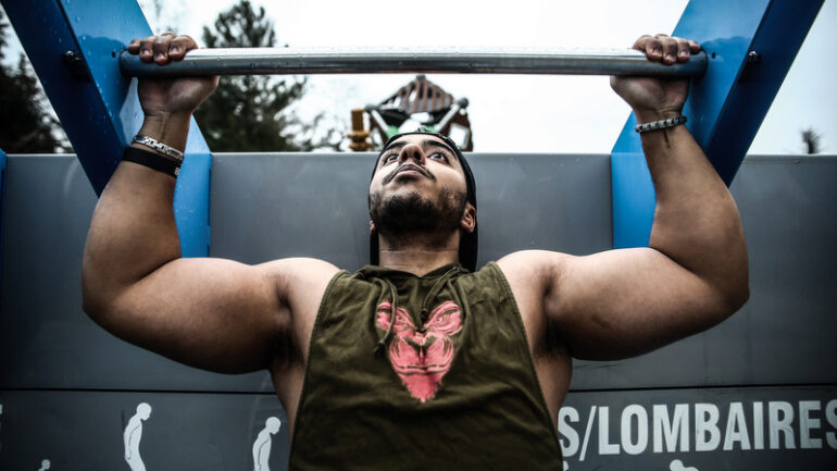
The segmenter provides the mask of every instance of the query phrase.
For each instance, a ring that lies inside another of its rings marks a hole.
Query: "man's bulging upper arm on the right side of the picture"
[[[727,314],[709,283],[650,248],[562,259],[546,306],[573,356],[591,360],[653,350]]]

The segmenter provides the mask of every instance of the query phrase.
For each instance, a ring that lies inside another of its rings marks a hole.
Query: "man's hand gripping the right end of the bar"
[[[634,49],[645,52],[651,61],[671,65],[688,62],[691,54],[700,51],[700,45],[657,35],[640,37]],[[610,84],[630,104],[640,123],[679,116],[689,92],[688,79],[612,76]]]

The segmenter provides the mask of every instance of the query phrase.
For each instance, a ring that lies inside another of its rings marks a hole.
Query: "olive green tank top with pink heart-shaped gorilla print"
[[[311,336],[290,470],[562,470],[500,269],[338,273]]]

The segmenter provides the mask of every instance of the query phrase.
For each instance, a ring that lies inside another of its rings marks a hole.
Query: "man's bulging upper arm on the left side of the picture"
[[[97,320],[114,335],[173,360],[238,373],[266,367],[289,311],[270,269],[177,259],[130,287]]]

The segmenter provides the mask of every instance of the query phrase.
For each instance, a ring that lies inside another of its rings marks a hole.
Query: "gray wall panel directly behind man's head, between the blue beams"
[[[212,255],[259,263],[315,257],[368,262],[374,153],[229,154],[212,163]],[[529,248],[612,247],[609,156],[469,157],[477,182],[479,264]]]

